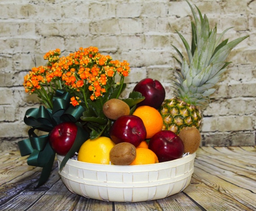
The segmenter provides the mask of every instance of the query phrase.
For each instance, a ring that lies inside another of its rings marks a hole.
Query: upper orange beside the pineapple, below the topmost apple
[[[145,127],[147,136],[146,139],[152,138],[154,134],[162,130],[163,118],[158,110],[148,105],[138,107],[133,115],[138,116],[142,119]]]

